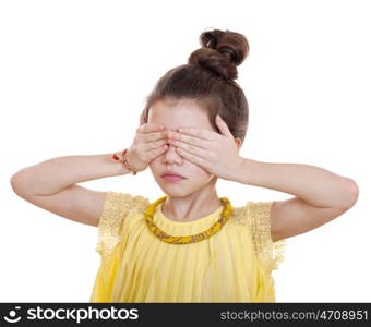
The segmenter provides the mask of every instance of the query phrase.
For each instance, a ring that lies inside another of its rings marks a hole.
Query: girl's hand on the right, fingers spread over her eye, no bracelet
[[[226,122],[217,114],[216,125],[222,134],[201,129],[178,129],[170,132],[169,144],[187,160],[208,173],[228,180],[242,161],[235,137]]]

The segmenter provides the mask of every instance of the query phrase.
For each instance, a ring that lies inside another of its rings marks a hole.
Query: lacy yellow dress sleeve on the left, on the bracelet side
[[[125,214],[131,208],[133,195],[108,191],[98,222],[98,241],[95,251],[107,256],[120,241]]]

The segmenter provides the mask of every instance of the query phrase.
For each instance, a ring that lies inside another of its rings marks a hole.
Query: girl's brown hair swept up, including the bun
[[[191,53],[188,64],[171,69],[160,77],[146,97],[141,119],[148,121],[148,110],[158,100],[192,99],[207,110],[215,132],[218,113],[235,138],[243,143],[249,122],[249,105],[243,90],[234,81],[237,65],[249,53],[247,38],[239,33],[213,29],[200,35],[202,47]]]

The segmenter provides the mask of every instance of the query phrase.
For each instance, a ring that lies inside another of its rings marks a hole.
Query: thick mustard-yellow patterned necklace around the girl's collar
[[[231,204],[230,201],[227,197],[219,197],[220,202],[223,203],[223,211],[220,214],[220,219],[217,220],[210,229],[198,233],[193,235],[188,235],[188,237],[172,237],[159,229],[154,220],[153,220],[153,215],[156,210],[156,207],[165,202],[167,196],[163,196],[158,198],[156,202],[151,204],[144,215],[145,215],[145,221],[149,228],[149,230],[157,237],[159,240],[167,242],[167,243],[172,243],[172,244],[190,244],[190,243],[196,243],[201,242],[203,240],[206,240],[214,235],[216,232],[218,232],[222,227],[228,221],[230,215],[231,215]]]

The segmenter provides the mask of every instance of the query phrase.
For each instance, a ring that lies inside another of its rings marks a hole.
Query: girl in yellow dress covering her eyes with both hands
[[[200,41],[187,64],[158,81],[123,152],[53,158],[12,177],[26,201],[98,227],[101,261],[91,302],[275,302],[272,271],[284,258],[285,240],[357,201],[349,178],[239,155],[249,110],[234,80],[248,40],[214,29]],[[148,166],[166,194],[154,203],[77,185]],[[235,207],[218,196],[218,178],[295,197]]]

